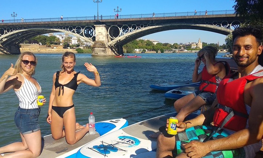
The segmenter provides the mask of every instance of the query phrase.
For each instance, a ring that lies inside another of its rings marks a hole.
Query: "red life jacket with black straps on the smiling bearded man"
[[[233,74],[225,77],[217,89],[217,100],[219,108],[216,109],[213,117],[214,125],[220,127],[231,110],[234,115],[226,122],[224,128],[240,131],[245,129],[248,113],[245,108],[244,88],[246,83],[263,77],[263,71],[229,81]]]

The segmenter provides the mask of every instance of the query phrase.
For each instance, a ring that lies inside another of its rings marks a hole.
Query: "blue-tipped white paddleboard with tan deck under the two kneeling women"
[[[54,140],[52,135],[47,135],[42,138],[42,151],[39,158],[65,158],[74,157],[76,152],[90,141],[108,134],[110,132],[119,130],[128,126],[126,119],[112,119],[95,123],[96,134],[90,135],[87,133],[80,141],[76,144],[67,144],[65,138]]]

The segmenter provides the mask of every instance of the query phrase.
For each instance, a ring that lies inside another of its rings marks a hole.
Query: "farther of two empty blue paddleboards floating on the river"
[[[191,86],[191,85],[200,85],[200,82],[193,82],[191,80],[188,80],[188,81],[161,83],[161,84],[151,84],[150,88],[153,90],[161,90],[167,92],[175,88]]]

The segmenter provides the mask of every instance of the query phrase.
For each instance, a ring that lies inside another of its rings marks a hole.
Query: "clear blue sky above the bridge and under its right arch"
[[[95,0],[96,1],[96,0]],[[114,15],[114,8],[122,8],[119,14],[155,14],[187,11],[219,11],[233,10],[234,0],[102,0],[99,3],[99,15]],[[11,14],[17,14],[15,19],[83,17],[97,15],[97,3],[93,0],[1,0],[0,19],[13,19]],[[201,42],[225,43],[225,35],[202,30],[169,30],[141,37],[157,40],[161,43]]]

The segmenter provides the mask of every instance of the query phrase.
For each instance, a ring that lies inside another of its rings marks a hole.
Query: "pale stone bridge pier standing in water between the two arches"
[[[108,36],[106,25],[94,25],[96,41],[93,44],[92,56],[115,56],[122,52],[122,47],[108,46],[107,43],[111,41]]]

